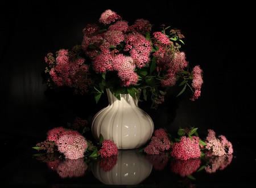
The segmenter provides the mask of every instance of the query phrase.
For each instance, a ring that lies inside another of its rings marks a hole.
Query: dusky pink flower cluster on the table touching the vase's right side
[[[154,131],[154,135],[151,136],[150,143],[144,147],[144,152],[146,152],[148,155],[157,155],[159,153],[168,151],[170,147],[171,142],[168,138],[168,134],[163,128],[160,128]]]

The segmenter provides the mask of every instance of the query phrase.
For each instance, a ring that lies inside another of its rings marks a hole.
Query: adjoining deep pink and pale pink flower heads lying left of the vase
[[[55,142],[59,152],[67,159],[79,159],[84,157],[88,148],[87,141],[78,131],[55,127],[47,133],[47,140]]]

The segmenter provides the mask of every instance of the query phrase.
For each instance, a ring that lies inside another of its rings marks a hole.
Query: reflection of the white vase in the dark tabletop
[[[93,161],[92,173],[105,185],[137,185],[150,175],[152,164],[136,149],[118,150],[117,161],[112,169],[103,170]]]

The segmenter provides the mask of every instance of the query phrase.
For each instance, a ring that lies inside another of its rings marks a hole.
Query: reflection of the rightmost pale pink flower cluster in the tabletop
[[[215,173],[217,170],[223,170],[228,166],[233,159],[233,155],[222,155],[210,157],[209,164],[205,166],[207,173]]]

